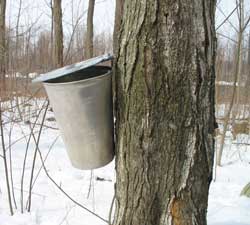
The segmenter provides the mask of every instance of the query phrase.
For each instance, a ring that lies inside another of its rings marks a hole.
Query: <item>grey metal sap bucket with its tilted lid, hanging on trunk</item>
[[[94,169],[114,157],[110,67],[104,55],[41,75],[74,167]]]

